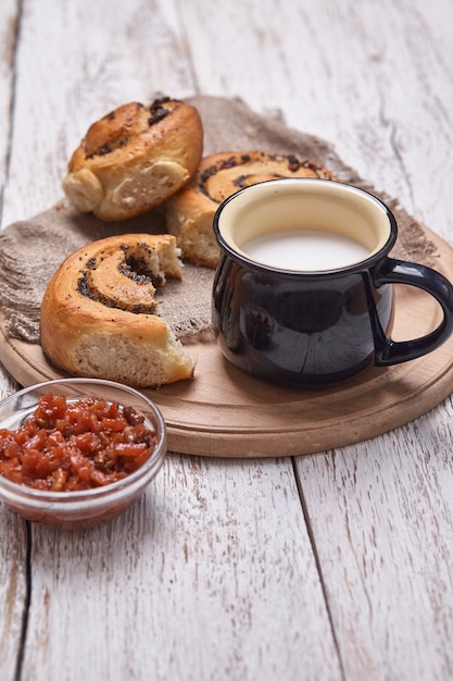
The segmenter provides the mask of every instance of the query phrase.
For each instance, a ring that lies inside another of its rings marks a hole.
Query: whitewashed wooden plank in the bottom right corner
[[[452,678],[450,401],[443,413],[298,459],[347,679]]]

